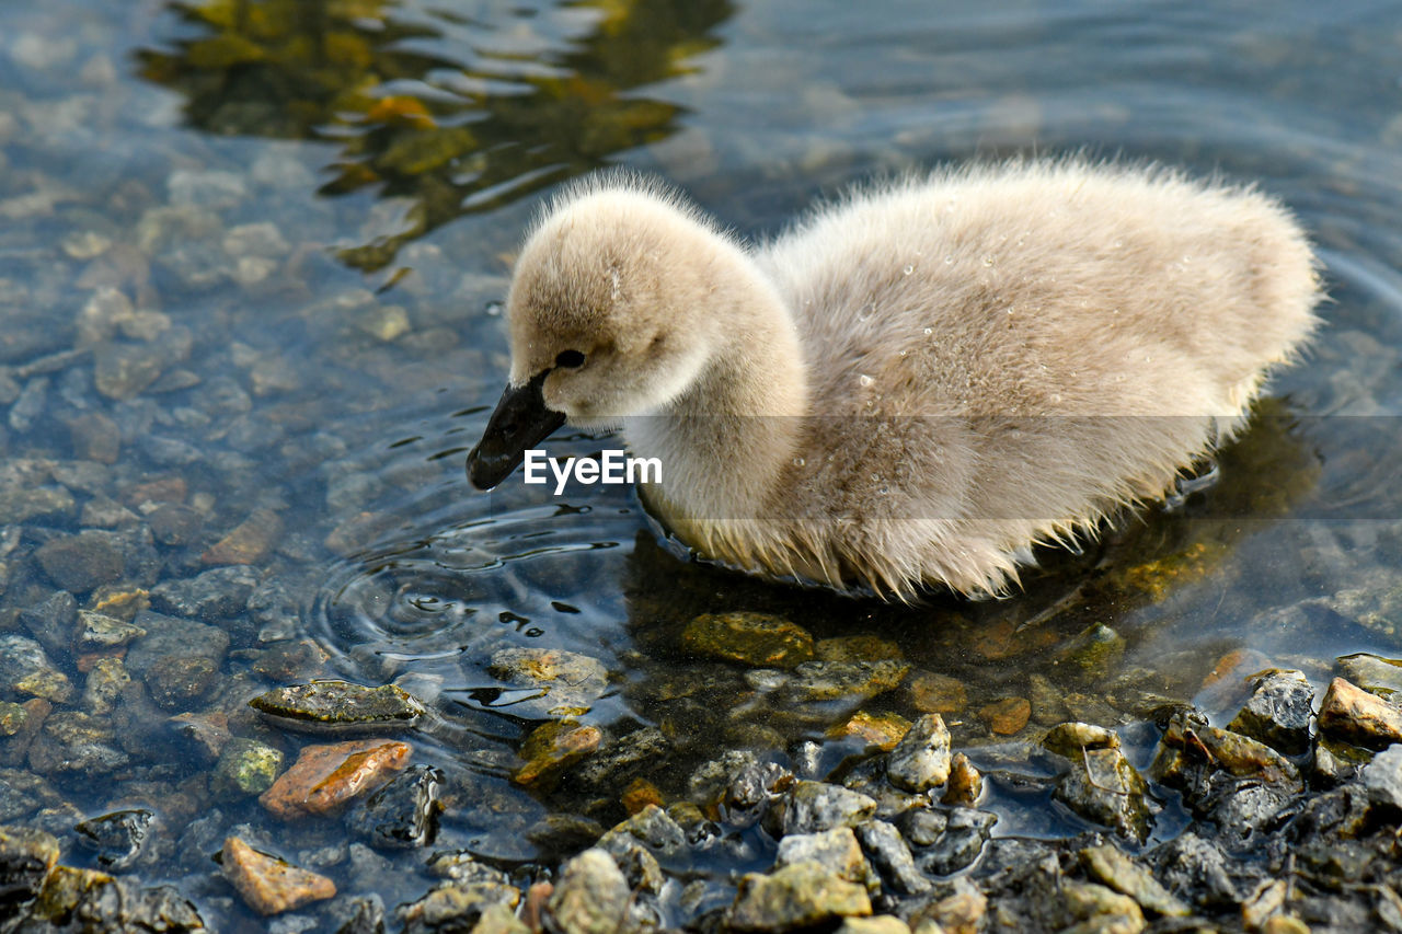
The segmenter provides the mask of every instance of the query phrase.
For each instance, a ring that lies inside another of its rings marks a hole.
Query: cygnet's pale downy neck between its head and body
[[[765,519],[808,414],[798,330],[773,285],[749,266],[718,282],[709,362],[663,412],[624,426],[637,453],[660,460],[662,482],[644,495],[674,526]]]

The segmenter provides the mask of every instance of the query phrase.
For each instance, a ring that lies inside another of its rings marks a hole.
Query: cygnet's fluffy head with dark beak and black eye
[[[712,353],[714,269],[736,248],[674,196],[593,182],[557,202],[516,262],[512,372],[468,454],[491,488],[568,418],[607,426],[666,408]]]

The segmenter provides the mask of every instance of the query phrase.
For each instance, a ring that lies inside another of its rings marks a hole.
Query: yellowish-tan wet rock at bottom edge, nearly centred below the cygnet
[[[871,913],[864,886],[817,862],[795,862],[770,875],[744,875],[726,924],[737,931],[787,931]]]

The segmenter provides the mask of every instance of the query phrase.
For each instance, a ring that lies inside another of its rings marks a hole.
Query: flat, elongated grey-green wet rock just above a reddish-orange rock
[[[278,687],[248,705],[286,728],[311,732],[398,729],[412,726],[428,712],[416,697],[395,684],[365,687],[338,680]]]

